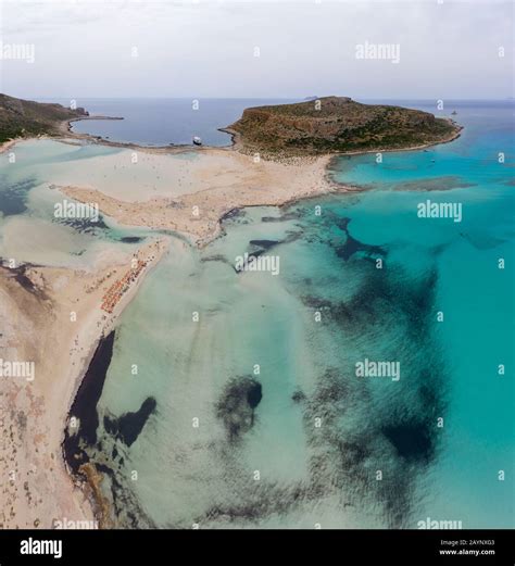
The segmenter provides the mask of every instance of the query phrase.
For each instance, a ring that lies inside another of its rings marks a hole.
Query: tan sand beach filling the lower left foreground
[[[0,377],[0,474],[9,478],[0,488],[0,528],[96,525],[87,501],[95,490],[72,486],[61,453],[67,413],[100,337],[166,248],[160,238],[135,256],[105,256],[95,273],[25,266],[21,279],[18,271],[0,267],[0,357],[35,367],[33,380]],[[135,257],[146,267],[109,314],[103,298]]]

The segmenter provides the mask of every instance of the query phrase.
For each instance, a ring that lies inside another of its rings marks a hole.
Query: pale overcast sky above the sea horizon
[[[514,25],[502,0],[0,0],[0,91],[502,99]]]

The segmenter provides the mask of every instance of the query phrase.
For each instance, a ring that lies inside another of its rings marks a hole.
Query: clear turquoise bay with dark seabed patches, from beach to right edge
[[[87,446],[118,526],[513,527],[513,105],[455,108],[453,143],[334,161],[367,191],[243,210],[201,251],[172,240],[117,324]],[[41,171],[10,177],[36,179],[29,203]],[[427,199],[462,222],[419,218]],[[244,252],[279,274],[237,273]],[[400,380],[356,377],[365,359]]]

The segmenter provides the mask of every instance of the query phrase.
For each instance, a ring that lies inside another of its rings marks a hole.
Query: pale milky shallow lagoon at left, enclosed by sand
[[[127,229],[102,215],[97,223],[54,216],[55,203],[65,199],[55,185],[112,186],[116,177],[126,190],[134,186],[138,179],[105,161],[121,153],[96,144],[28,140],[0,154],[0,257],[89,271],[106,253],[136,250],[149,230]]]

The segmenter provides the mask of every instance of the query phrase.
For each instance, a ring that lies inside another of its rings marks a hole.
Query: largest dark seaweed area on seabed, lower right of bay
[[[347,226],[342,223],[340,227]],[[199,521],[258,525],[273,514],[288,514],[296,506],[330,496],[341,507],[377,508],[389,528],[411,524],[415,486],[438,455],[436,416],[445,412],[444,368],[429,324],[438,272],[431,268],[425,277],[413,278],[401,266],[379,273],[367,264],[366,271],[365,284],[347,303],[316,297],[305,300],[323,303],[348,339],[369,332],[373,343],[378,329],[395,325],[399,342],[407,339],[414,355],[423,350],[432,354],[420,356],[410,387],[382,400],[381,405],[376,404],[367,382],[355,380],[351,366],[322,372],[314,391],[296,395],[310,446],[309,481],[285,488],[262,478],[248,489],[248,481],[239,477],[237,452],[227,450],[224,457],[235,500],[213,505]],[[233,408],[226,406],[229,415]],[[319,429],[313,426],[315,417],[322,418]],[[384,474],[380,481],[375,476],[378,469]]]

